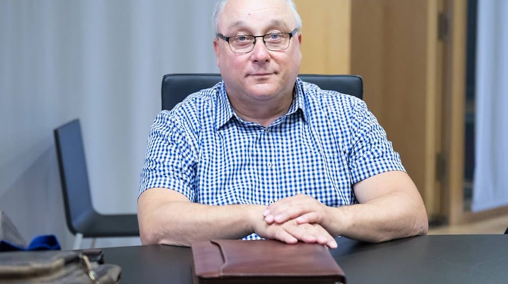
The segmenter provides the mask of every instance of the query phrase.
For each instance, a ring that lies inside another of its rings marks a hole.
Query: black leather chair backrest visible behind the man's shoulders
[[[301,74],[303,81],[316,84],[323,90],[338,91],[358,98],[363,96],[362,77],[356,75]],[[162,109],[171,110],[187,95],[210,88],[222,80],[220,74],[168,74],[162,79]]]

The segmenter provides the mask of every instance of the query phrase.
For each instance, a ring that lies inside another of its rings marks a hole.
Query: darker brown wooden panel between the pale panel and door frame
[[[429,215],[439,213],[436,141],[442,96],[436,60],[440,0],[352,2],[352,73],[362,75],[365,101],[387,131]]]

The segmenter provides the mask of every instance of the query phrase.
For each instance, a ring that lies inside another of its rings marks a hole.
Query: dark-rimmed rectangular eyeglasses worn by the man
[[[265,35],[242,34],[234,35],[233,37],[225,37],[221,33],[216,33],[215,35],[217,38],[227,41],[229,48],[234,53],[247,53],[254,49],[257,38],[263,38],[263,43],[268,50],[278,51],[287,49],[291,38],[297,31],[298,29],[295,28],[292,32],[275,32]]]

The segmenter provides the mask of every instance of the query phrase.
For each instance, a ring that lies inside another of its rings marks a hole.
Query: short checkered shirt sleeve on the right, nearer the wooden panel
[[[385,129],[379,125],[364,101],[354,104],[352,115],[353,138],[348,167],[353,184],[378,173],[405,171]]]

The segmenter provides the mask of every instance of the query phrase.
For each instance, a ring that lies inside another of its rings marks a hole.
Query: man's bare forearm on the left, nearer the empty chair
[[[168,190],[150,190],[138,201],[138,220],[143,244],[189,246],[213,238],[238,239],[253,232],[256,216],[262,220],[265,206],[212,206],[188,200],[160,201]],[[144,196],[146,194],[146,196]],[[175,200],[177,199],[177,200]]]

